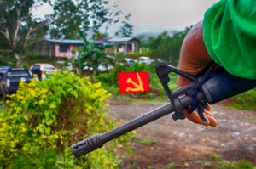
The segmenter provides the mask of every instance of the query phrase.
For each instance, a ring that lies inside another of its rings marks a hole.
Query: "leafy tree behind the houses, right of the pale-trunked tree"
[[[116,4],[110,10],[107,0],[60,0],[53,8],[50,34],[54,38],[79,38],[79,29],[95,33],[102,25],[118,22],[121,14]]]

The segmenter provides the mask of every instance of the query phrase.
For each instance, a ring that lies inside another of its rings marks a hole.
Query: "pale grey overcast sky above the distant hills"
[[[218,0],[119,0],[119,8],[125,14],[131,13],[131,25],[183,30],[202,20],[207,8],[216,2]]]

